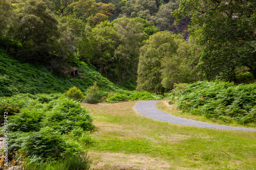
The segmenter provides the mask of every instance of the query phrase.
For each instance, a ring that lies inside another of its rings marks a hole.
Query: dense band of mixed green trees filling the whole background
[[[137,90],[159,94],[180,82],[237,82],[241,72],[250,72],[255,82],[255,6],[253,1],[1,0],[1,45],[23,62],[65,74],[80,60],[122,87],[135,89],[137,82]],[[182,30],[171,31],[174,22],[187,20],[188,43]]]

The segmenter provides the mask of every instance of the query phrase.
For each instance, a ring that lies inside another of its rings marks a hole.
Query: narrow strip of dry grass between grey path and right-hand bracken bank
[[[168,104],[168,102],[166,100],[159,101],[157,103],[157,108],[162,110],[165,113],[169,113],[169,114],[179,116],[179,117],[182,117],[182,118],[186,118],[186,119],[189,119],[189,120],[196,120],[196,121],[206,122],[206,123],[209,123],[209,124],[233,126],[233,127],[240,127],[240,128],[256,128],[255,123],[248,123],[248,124],[245,124],[245,125],[241,125],[236,120],[232,120],[230,122],[225,122],[221,119],[207,118],[203,114],[201,114],[201,115],[196,114],[195,115],[195,114],[188,113],[186,111],[181,111],[181,110],[177,109],[174,105]]]

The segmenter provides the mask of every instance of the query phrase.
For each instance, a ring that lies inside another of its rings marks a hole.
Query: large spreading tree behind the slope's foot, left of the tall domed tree
[[[139,48],[148,34],[158,31],[141,18],[118,18],[93,28],[94,57],[90,62],[114,83],[135,86]]]

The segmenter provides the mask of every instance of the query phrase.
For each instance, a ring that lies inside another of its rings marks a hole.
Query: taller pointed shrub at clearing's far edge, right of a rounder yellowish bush
[[[86,90],[86,97],[83,102],[90,104],[97,104],[100,102],[99,88],[97,87],[97,82],[94,82],[93,86]]]

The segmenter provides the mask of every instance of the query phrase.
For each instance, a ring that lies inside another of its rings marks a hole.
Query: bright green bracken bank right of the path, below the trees
[[[182,87],[182,88],[181,88]],[[177,107],[209,118],[225,122],[231,119],[240,124],[256,122],[256,84],[240,84],[212,81],[197,82],[175,88],[167,98],[177,101]]]

